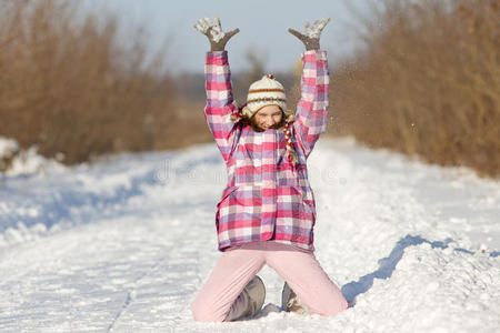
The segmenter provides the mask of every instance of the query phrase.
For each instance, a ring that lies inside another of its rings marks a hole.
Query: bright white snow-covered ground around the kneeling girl
[[[499,332],[500,182],[351,140],[309,161],[317,258],[356,306],[197,323],[220,253],[214,144],[0,179],[1,332]],[[283,281],[259,275],[266,303]]]

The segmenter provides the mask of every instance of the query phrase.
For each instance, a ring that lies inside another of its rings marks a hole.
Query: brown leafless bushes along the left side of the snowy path
[[[147,61],[140,29],[126,47],[117,17],[99,17],[78,1],[0,1],[0,135],[68,164],[174,145],[167,48]]]

